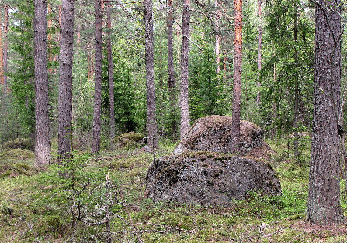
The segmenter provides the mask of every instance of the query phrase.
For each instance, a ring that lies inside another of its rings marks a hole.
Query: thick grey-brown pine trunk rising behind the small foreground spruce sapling
[[[72,66],[74,43],[74,0],[62,0],[58,99],[58,164],[70,157],[72,124]]]

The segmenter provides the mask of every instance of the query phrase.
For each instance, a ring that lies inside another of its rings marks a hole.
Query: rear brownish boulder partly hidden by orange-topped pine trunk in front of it
[[[197,119],[177,145],[174,154],[187,151],[231,152],[231,121],[228,116],[206,116]],[[243,153],[262,146],[262,130],[250,121],[241,120],[240,150]]]

